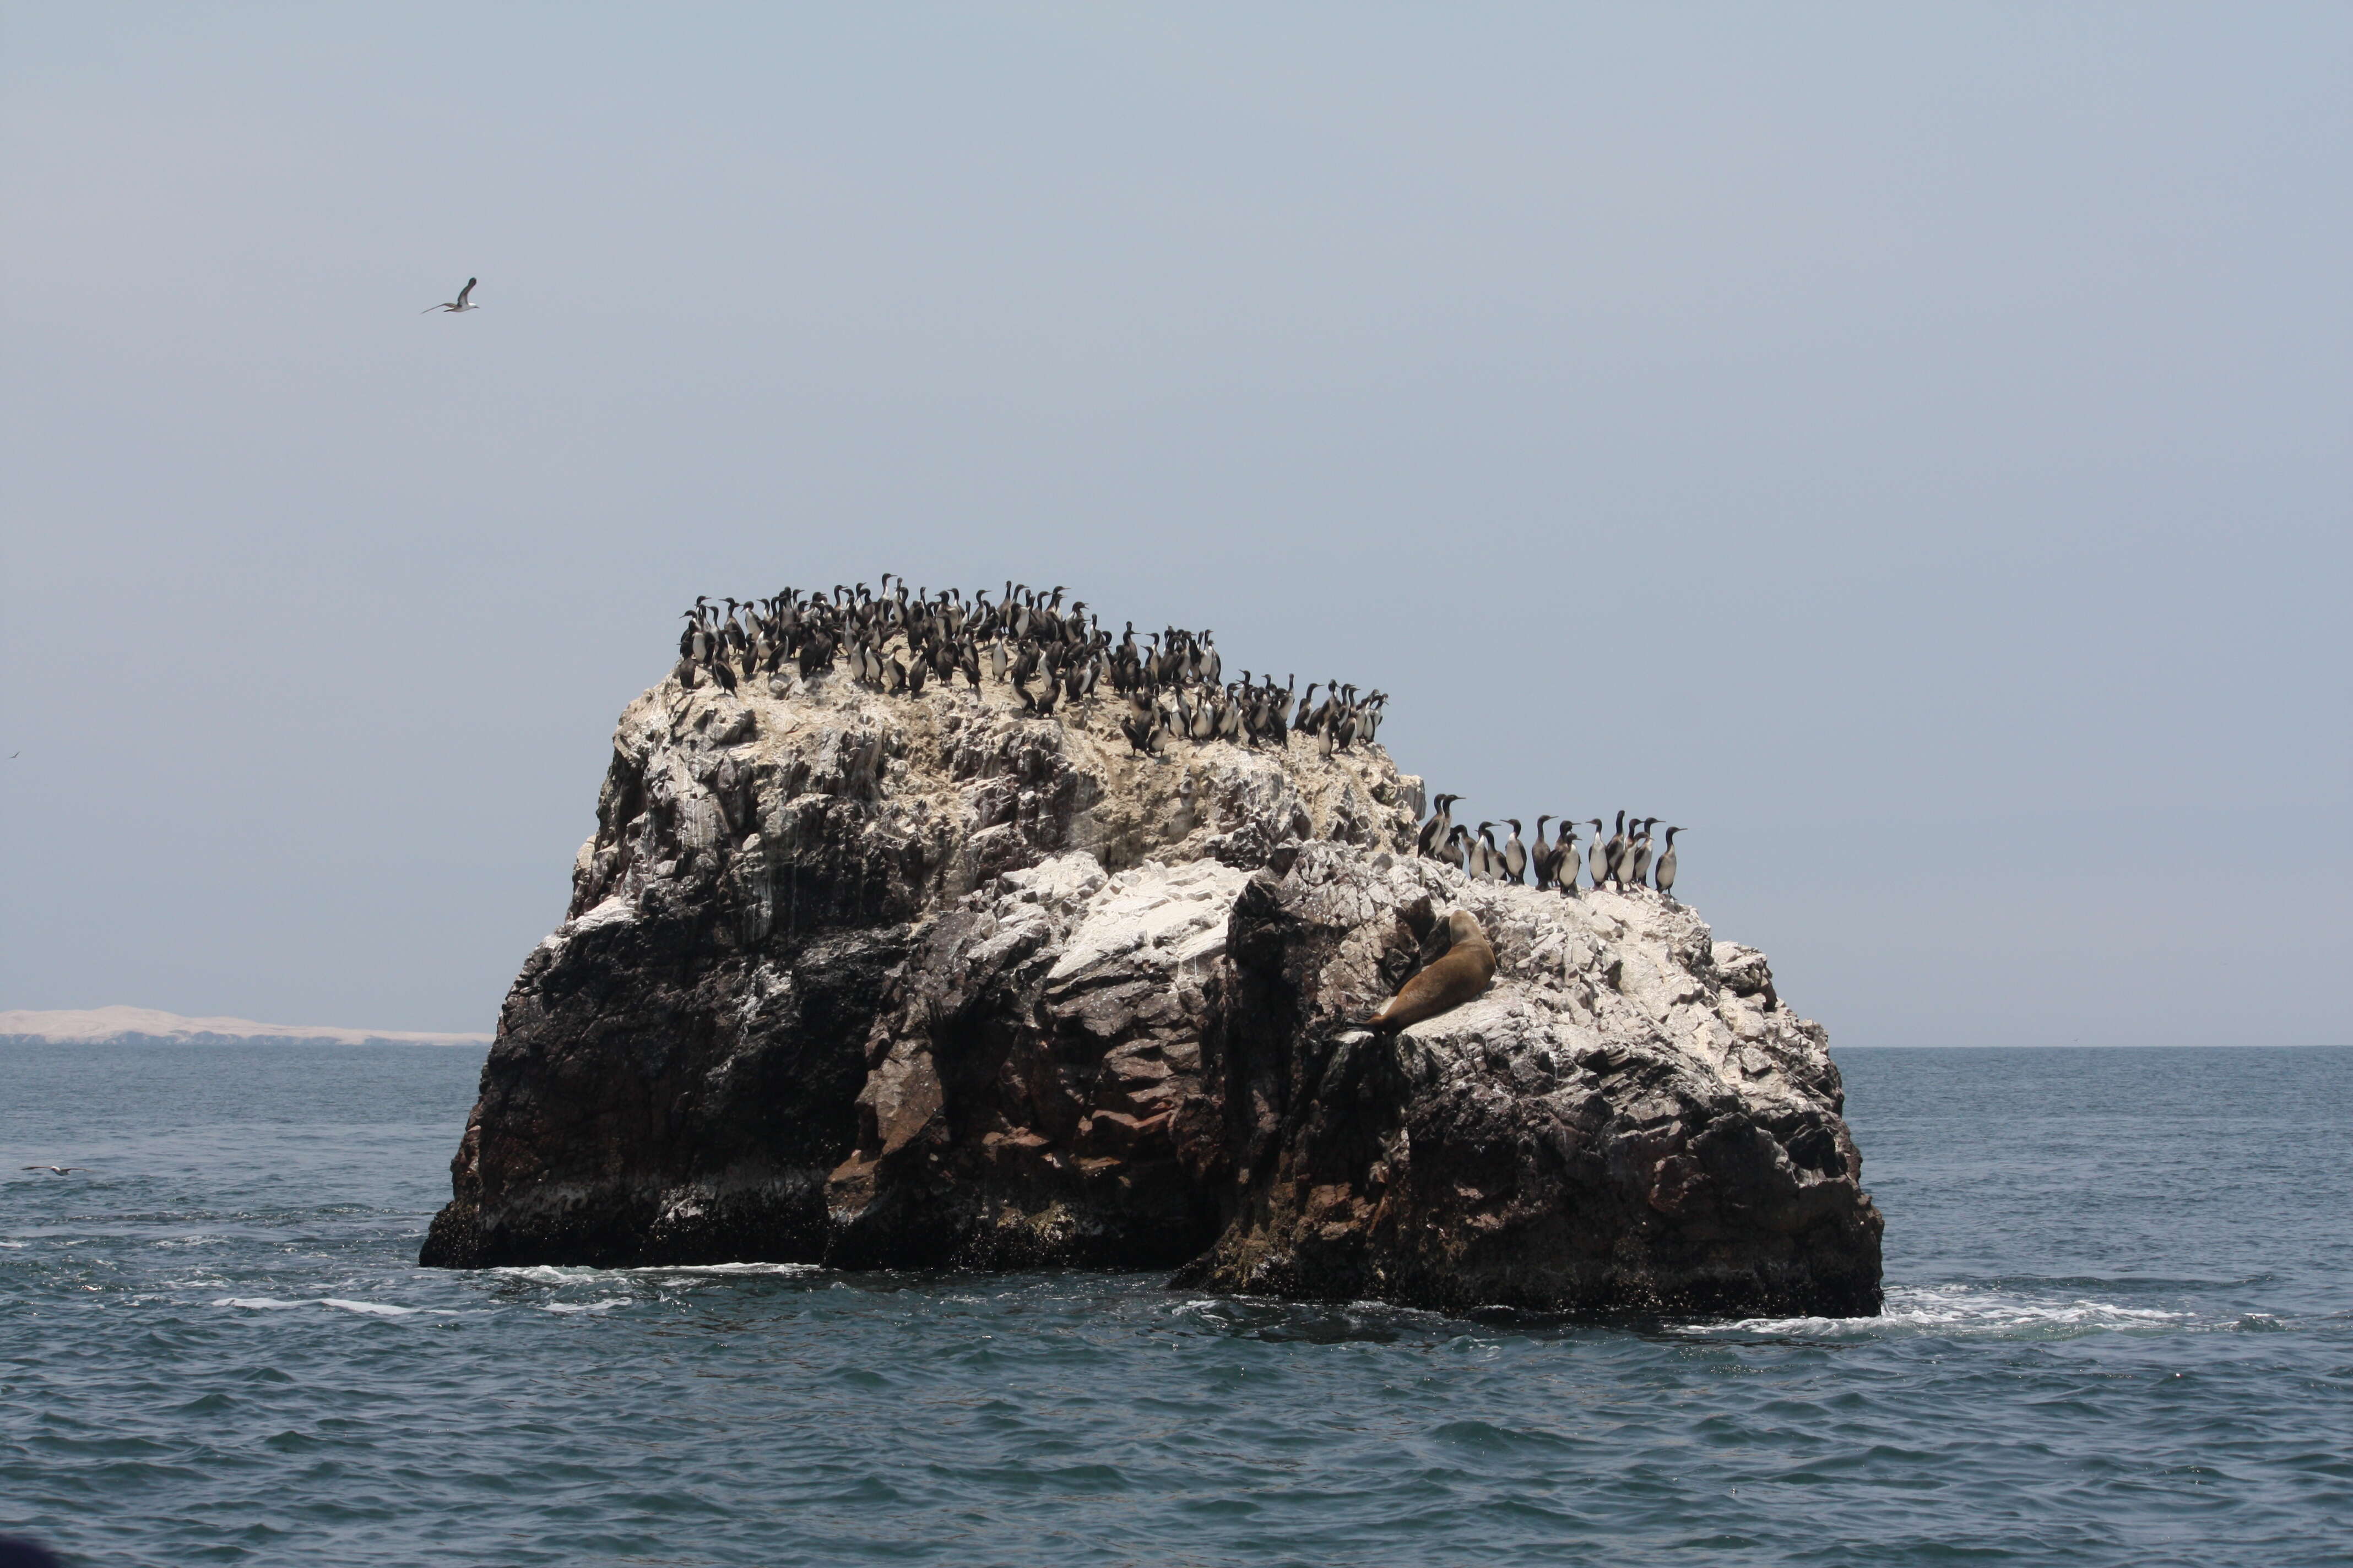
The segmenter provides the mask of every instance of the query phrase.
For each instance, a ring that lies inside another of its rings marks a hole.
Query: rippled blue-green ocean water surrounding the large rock
[[[0,1533],[172,1566],[2353,1563],[2353,1051],[1840,1063],[1887,1316],[1574,1324],[426,1272],[475,1053],[0,1046]]]

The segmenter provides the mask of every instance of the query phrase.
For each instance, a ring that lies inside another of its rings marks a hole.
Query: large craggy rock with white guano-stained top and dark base
[[[995,686],[664,682],[424,1262],[1875,1312],[1838,1067],[1765,957],[1657,893],[1473,884],[1412,856],[1419,809],[1372,745],[1151,759]],[[1494,987],[1351,1027],[1449,907]]]

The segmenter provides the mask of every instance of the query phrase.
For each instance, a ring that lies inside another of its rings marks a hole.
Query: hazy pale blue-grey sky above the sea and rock
[[[0,45],[0,1009],[487,1030],[680,607],[904,571],[1682,823],[1833,1046],[2353,1039],[2353,7]]]

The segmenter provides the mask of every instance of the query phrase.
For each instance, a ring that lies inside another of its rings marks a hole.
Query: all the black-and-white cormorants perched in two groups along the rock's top
[[[896,585],[894,585],[896,583]],[[831,592],[786,588],[765,599],[720,595],[694,597],[678,635],[680,686],[715,684],[734,691],[746,679],[776,682],[788,672],[816,679],[835,665],[847,665],[849,679],[892,696],[922,696],[925,684],[953,686],[962,677],[972,689],[984,679],[1009,684],[1031,717],[1066,719],[1096,710],[1099,689],[1120,698],[1118,726],[1127,743],[1151,757],[1167,755],[1179,741],[1195,745],[1233,741],[1238,745],[1287,748],[1294,733],[1311,736],[1322,755],[1344,752],[1358,741],[1372,743],[1381,729],[1386,691],[1358,696],[1348,682],[1308,682],[1299,696],[1299,677],[1275,684],[1273,675],[1224,679],[1224,656],[1209,628],[1191,632],[1176,625],[1146,632],[1139,646],[1136,623],[1120,637],[1104,630],[1085,599],[1064,607],[1066,588],[1056,583],[1033,590],[1005,581],[991,602],[991,590],[969,597],[955,588],[908,588],[904,576],[882,574],[882,590],[866,583],[835,583]],[[1318,703],[1315,693],[1325,698]],[[1537,818],[1537,842],[1520,839],[1520,818],[1499,818],[1466,827],[1452,806],[1461,795],[1440,795],[1435,811],[1421,823],[1419,853],[1445,860],[1478,882],[1527,882],[1539,889],[1577,896],[1584,867],[1593,889],[1652,886],[1673,898],[1675,835],[1668,827],[1652,858],[1652,827],[1661,820],[1617,813],[1617,827],[1602,839],[1602,818],[1558,818],[1560,832],[1544,837],[1553,813]],[[1579,823],[1593,825],[1593,844],[1579,856]],[[1511,837],[1494,842],[1494,830],[1508,825]],[[1631,832],[1628,832],[1631,827]]]

